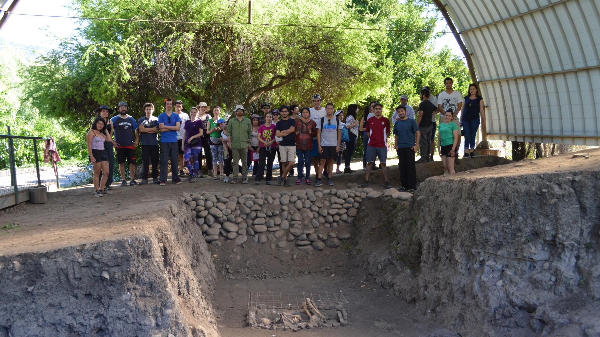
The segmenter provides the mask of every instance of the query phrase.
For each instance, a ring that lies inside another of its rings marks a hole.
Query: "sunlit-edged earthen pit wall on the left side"
[[[0,256],[0,336],[220,336],[214,264],[184,203],[132,236]]]

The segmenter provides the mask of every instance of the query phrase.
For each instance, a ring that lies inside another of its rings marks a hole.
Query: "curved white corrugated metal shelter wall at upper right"
[[[488,139],[600,146],[600,0],[440,2],[472,56]]]

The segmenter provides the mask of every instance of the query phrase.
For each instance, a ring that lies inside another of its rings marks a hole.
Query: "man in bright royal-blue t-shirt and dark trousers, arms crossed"
[[[160,130],[160,185],[167,181],[167,169],[169,160],[171,162],[171,180],[173,183],[181,183],[177,171],[178,167],[178,143],[177,134],[179,133],[181,119],[179,115],[173,113],[173,100],[167,98],[164,100],[164,112],[158,115],[158,129]]]

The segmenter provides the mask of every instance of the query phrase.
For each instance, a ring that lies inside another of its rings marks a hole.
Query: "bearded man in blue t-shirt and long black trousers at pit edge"
[[[414,193],[416,189],[415,154],[421,131],[414,119],[408,118],[406,108],[399,106],[398,121],[394,124],[395,145],[398,151],[398,169],[400,169],[400,191]]]

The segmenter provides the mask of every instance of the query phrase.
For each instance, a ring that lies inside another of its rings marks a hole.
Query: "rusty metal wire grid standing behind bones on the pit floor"
[[[317,308],[347,305],[341,290],[307,291],[305,293],[253,293],[248,294],[248,309],[302,309],[302,302],[309,298]]]

